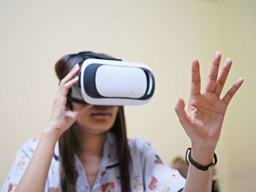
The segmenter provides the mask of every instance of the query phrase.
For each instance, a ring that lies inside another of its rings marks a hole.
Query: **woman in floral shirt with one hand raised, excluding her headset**
[[[106,57],[110,58],[84,52],[57,62],[61,81],[48,128],[39,141],[30,140],[18,152],[2,191],[211,191],[208,168],[216,158],[227,105],[244,81],[238,79],[219,99],[232,61],[226,60],[217,79],[221,53],[214,55],[204,93],[200,93],[199,63],[192,62],[188,110],[183,99],[175,107],[192,143],[185,181],[168,169],[148,142],[127,140],[123,107],[81,104],[68,96],[69,88],[78,83],[78,64]]]

